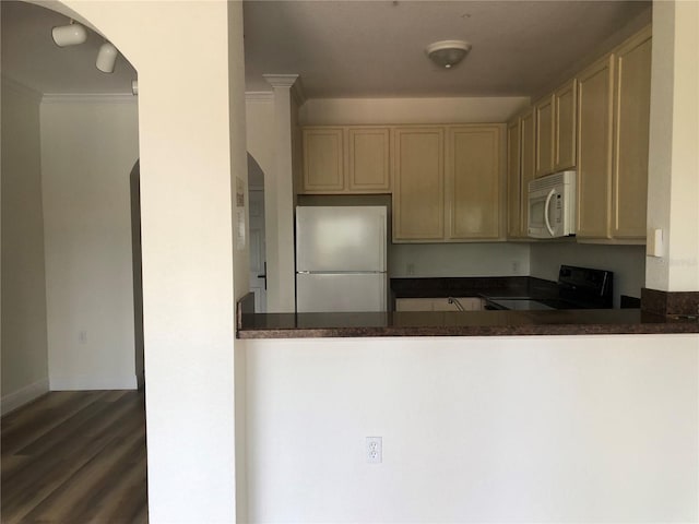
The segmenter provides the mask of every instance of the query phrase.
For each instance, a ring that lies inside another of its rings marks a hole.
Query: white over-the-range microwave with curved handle
[[[576,234],[576,171],[529,182],[529,236],[557,238]]]

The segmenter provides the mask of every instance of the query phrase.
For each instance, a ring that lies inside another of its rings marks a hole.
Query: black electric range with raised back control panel
[[[547,296],[486,296],[485,309],[547,310],[608,309],[613,303],[614,273],[561,265],[554,293]]]

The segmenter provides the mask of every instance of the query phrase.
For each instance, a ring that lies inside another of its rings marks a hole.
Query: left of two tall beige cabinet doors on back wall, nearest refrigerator
[[[393,240],[445,237],[445,129],[394,132]]]

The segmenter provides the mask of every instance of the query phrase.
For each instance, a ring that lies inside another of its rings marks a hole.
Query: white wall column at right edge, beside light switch
[[[699,2],[653,2],[648,227],[663,231],[648,287],[699,291]]]

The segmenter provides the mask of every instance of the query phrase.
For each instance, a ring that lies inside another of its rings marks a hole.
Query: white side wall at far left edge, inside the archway
[[[40,95],[2,79],[2,413],[48,391]]]

